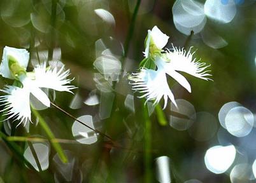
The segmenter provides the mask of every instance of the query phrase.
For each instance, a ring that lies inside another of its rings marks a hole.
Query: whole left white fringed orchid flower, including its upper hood
[[[17,51],[19,50],[17,49]],[[25,51],[23,53],[27,54]],[[20,58],[24,57],[25,55],[20,55]],[[7,85],[3,90],[0,90],[6,93],[6,95],[0,97],[0,102],[3,103],[1,105],[5,106],[1,112],[4,112],[4,115],[9,115],[7,119],[14,118],[15,120],[20,120],[20,123],[24,122],[24,125],[27,121],[31,121],[30,95],[34,95],[43,105],[50,107],[50,99],[41,88],[50,88],[70,93],[73,93],[71,90],[76,88],[75,86],[68,85],[73,79],[66,79],[70,72],[69,70],[64,71],[64,65],[57,71],[56,67],[46,68],[44,63],[36,65],[33,72],[25,72],[27,64],[22,65],[24,60],[11,55],[11,53],[3,55],[3,62],[1,64],[3,67],[0,66],[3,70],[3,72],[1,70],[2,76],[16,79],[22,84],[22,87]],[[6,75],[6,73],[9,73],[9,75]]]

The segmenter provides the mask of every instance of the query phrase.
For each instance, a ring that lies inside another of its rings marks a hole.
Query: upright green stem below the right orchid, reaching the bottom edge
[[[148,110],[146,107],[143,107],[143,112],[144,112],[144,122],[145,122],[145,144],[144,144],[144,163],[145,163],[145,182],[152,182],[152,168],[151,168],[151,163],[152,163],[152,154],[151,154],[151,149],[152,149],[152,135],[151,135],[151,121],[150,117],[148,116]]]

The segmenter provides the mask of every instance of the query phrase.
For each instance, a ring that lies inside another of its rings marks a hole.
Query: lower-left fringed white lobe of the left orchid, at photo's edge
[[[6,86],[1,92],[7,94],[0,97],[0,102],[2,105],[5,105],[1,112],[4,112],[4,115],[8,115],[7,119],[14,118],[15,120],[19,120],[20,123],[24,122],[24,125],[27,121],[31,121],[30,91],[28,88]]]

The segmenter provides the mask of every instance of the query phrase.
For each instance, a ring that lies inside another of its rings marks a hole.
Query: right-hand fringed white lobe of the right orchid
[[[166,56],[169,62],[166,62],[165,64],[166,71],[175,70],[187,72],[197,78],[211,80],[208,78],[208,76],[211,76],[211,74],[208,73],[210,71],[206,71],[206,68],[210,67],[210,65],[206,65],[206,63],[199,62],[200,60],[193,58],[195,52],[191,53],[191,48],[187,52],[184,48],[177,48],[174,46],[171,49],[172,51],[167,50]]]

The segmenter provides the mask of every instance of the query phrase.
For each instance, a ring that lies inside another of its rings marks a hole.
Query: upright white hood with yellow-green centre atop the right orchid
[[[162,51],[162,48],[166,46],[168,42],[169,36],[164,34],[157,26],[154,26],[152,30],[148,30],[148,36],[146,36],[145,40],[145,58],[150,57],[150,55],[154,55],[155,52]]]

